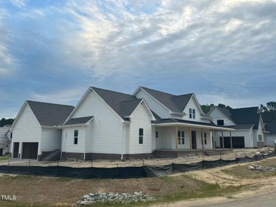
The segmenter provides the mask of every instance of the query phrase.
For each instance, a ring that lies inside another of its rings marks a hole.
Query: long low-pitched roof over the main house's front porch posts
[[[217,126],[213,122],[204,123],[199,121],[188,121],[183,119],[159,119],[157,121],[153,121],[152,125],[154,126],[189,126],[189,127],[197,127],[197,128],[210,128],[214,130],[228,130],[234,131],[234,128],[228,128],[227,126]]]

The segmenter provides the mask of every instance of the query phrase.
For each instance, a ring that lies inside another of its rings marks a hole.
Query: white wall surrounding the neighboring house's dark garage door
[[[220,147],[221,131],[215,130],[215,146]],[[230,137],[230,132],[224,131],[224,137]],[[254,148],[253,130],[236,130],[232,131],[232,137],[244,137],[244,147]]]

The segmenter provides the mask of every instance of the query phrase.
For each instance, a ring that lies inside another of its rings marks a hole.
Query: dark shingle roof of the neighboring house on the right
[[[248,125],[253,125],[254,130],[257,130],[259,127],[259,119],[261,115],[259,114],[258,107],[250,107],[250,108],[233,108],[228,110],[227,108],[219,108],[221,112],[226,115],[229,119],[231,119],[235,124],[240,125],[239,127],[248,127]],[[240,128],[239,128],[240,129]]]

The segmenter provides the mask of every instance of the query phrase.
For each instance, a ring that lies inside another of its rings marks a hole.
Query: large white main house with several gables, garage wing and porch
[[[128,95],[90,87],[75,108],[26,101],[12,125],[12,152],[13,157],[40,160],[55,150],[61,150],[61,159],[213,150],[216,131],[235,129],[210,119],[195,94],[139,87]]]

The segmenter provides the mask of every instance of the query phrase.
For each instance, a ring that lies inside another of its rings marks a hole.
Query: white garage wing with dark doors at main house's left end
[[[12,157],[41,159],[61,148],[61,129],[74,106],[25,101],[12,124]]]

